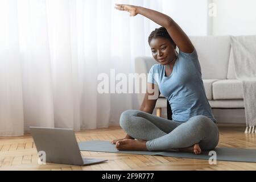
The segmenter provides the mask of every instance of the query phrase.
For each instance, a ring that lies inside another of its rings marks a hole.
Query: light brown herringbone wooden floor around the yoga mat
[[[218,147],[256,149],[256,134],[243,133],[241,126],[220,126]],[[83,130],[76,133],[78,141],[112,140],[124,137],[120,127]],[[0,137],[0,170],[256,170],[256,163],[222,162],[210,165],[208,160],[171,158],[165,156],[82,152],[88,158],[108,159],[108,162],[92,166],[64,164],[39,165],[35,144],[30,134],[23,137]]]

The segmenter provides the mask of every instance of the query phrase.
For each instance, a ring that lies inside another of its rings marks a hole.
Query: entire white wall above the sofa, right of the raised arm
[[[161,2],[160,0],[155,0]],[[255,35],[255,0],[162,0],[162,12],[188,35]],[[217,14],[208,15],[210,3]]]

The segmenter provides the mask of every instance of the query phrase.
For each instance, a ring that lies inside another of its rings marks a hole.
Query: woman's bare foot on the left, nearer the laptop
[[[134,139],[119,140],[115,144],[115,148],[117,148],[117,150],[147,151],[146,141],[144,141],[144,140],[134,140]]]

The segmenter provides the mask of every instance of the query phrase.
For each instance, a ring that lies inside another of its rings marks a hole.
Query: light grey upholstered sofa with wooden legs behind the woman
[[[201,65],[205,92],[212,108],[244,108],[242,83],[236,79],[230,36],[191,36]],[[152,57],[137,57],[135,72],[148,73],[157,64]],[[141,104],[144,94],[138,94]],[[167,106],[166,98],[156,102],[157,115]]]

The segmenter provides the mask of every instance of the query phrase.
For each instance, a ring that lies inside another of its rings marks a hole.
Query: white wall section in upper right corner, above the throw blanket
[[[213,0],[213,35],[256,35],[255,0]]]

